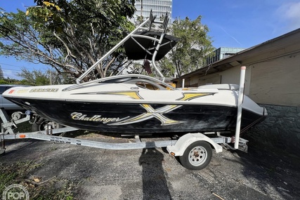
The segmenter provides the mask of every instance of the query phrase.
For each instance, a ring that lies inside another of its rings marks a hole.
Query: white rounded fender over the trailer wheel
[[[185,149],[196,141],[205,141],[214,147],[216,153],[222,152],[222,147],[202,133],[188,133],[179,138],[175,145],[167,146],[167,151],[173,156],[182,156]]]

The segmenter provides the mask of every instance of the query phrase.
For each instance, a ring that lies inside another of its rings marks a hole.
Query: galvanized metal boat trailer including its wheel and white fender
[[[4,154],[6,149],[6,140],[18,140],[18,139],[34,139],[44,140],[56,143],[63,143],[69,145],[79,145],[84,147],[96,147],[100,149],[145,149],[155,147],[167,147],[169,154],[173,156],[179,156],[181,164],[190,170],[200,170],[205,168],[212,156],[213,147],[217,153],[222,152],[223,147],[226,149],[235,149],[229,143],[234,142],[234,137],[222,136],[221,133],[187,133],[183,136],[167,138],[167,140],[153,140],[143,141],[142,136],[134,135],[136,142],[124,142],[124,143],[111,143],[111,142],[99,142],[95,140],[82,140],[79,138],[68,138],[60,136],[61,133],[69,131],[78,131],[77,128],[63,127],[53,128],[51,124],[46,126],[45,131],[35,131],[28,133],[15,133],[19,124],[28,122],[32,119],[28,112],[27,114],[21,114],[20,112],[13,114],[12,119],[9,120],[8,115],[4,109],[0,110],[0,116],[3,123],[1,124],[0,142],[1,149],[0,154]],[[22,117],[21,117],[22,116]],[[214,138],[209,137],[214,135]],[[247,140],[240,138],[239,148],[240,150],[247,152]]]

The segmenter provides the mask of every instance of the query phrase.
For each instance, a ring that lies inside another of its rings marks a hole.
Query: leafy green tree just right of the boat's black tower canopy
[[[169,27],[169,34],[180,40],[169,55],[159,61],[164,76],[173,75],[175,70],[181,76],[203,67],[206,56],[214,51],[208,32],[207,25],[201,23],[201,16],[193,21],[176,19]]]

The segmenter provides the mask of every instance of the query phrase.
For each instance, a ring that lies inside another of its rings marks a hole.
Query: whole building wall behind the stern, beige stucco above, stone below
[[[242,137],[263,147],[299,154],[300,53],[244,65],[247,67],[244,94],[266,107],[268,116]],[[190,79],[198,80],[198,86],[218,84],[218,80],[221,84],[239,84],[240,67]]]

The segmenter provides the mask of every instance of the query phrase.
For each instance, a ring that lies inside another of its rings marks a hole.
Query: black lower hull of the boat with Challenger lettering
[[[237,107],[216,105],[134,104],[8,98],[58,124],[103,133],[195,133],[235,131]],[[241,128],[264,114],[242,110]]]

